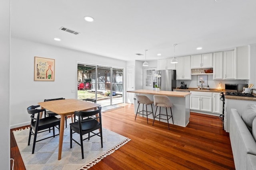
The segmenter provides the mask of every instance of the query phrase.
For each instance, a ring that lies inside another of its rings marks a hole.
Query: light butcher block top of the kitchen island
[[[172,97],[181,97],[184,98],[187,95],[190,95],[190,92],[172,92],[172,91],[159,91],[156,92],[156,90],[130,90],[127,92],[131,93],[140,93],[140,94],[153,94],[153,95],[162,95],[162,96],[172,96]]]

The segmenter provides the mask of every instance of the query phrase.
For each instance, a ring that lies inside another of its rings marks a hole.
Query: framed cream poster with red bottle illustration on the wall
[[[34,80],[35,81],[54,81],[55,59],[35,57]]]

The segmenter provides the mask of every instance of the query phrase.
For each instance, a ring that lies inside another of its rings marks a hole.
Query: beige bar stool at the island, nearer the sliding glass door
[[[144,96],[144,95],[137,95],[136,94],[136,98],[137,98],[137,103],[138,103],[138,109],[137,109],[137,112],[136,112],[135,120],[136,120],[137,114],[140,113],[140,112],[142,112],[142,117],[144,117],[144,104],[145,104],[146,105],[147,123],[148,123],[148,115],[153,114],[153,117],[154,117],[153,107],[152,107],[152,103],[154,103],[154,102],[152,100],[150,100],[147,96]],[[143,104],[142,111],[138,112],[140,104]],[[147,105],[151,105],[152,111],[148,111]]]

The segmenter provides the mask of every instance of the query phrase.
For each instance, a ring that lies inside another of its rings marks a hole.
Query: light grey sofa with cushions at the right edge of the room
[[[247,106],[243,113],[231,109],[230,142],[236,170],[256,170],[256,105],[254,106]],[[252,132],[248,128],[248,118],[252,122]]]

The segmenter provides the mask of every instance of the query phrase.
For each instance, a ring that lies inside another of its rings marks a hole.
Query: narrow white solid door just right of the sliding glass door
[[[126,67],[126,89],[135,90],[134,88],[134,66]],[[134,103],[134,93],[127,93],[126,103]]]

